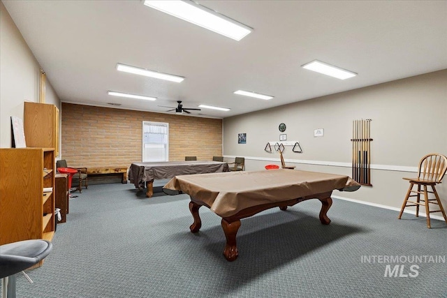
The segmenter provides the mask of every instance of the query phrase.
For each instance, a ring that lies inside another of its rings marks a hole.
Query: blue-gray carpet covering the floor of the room
[[[342,195],[335,191],[335,195]],[[17,276],[17,297],[447,297],[447,264],[418,262],[416,277],[384,276],[386,265],[362,256],[447,254],[447,225],[334,200],[321,225],[318,200],[242,220],[239,258],[227,262],[221,218],[200,209],[193,222],[187,195],[132,184],[103,184],[70,200],[43,267]],[[415,274],[404,265],[402,276]]]

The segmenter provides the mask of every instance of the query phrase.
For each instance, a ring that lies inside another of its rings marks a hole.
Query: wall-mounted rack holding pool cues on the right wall
[[[352,124],[352,178],[359,184],[371,184],[371,119],[354,120]]]

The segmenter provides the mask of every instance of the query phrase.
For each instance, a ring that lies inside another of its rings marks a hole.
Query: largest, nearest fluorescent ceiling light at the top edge
[[[253,30],[193,1],[145,0],[144,4],[234,40],[241,40]]]

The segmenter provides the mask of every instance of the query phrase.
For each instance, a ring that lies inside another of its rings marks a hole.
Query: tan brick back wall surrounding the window
[[[222,120],[61,105],[61,158],[69,167],[126,166],[142,160],[142,121],[169,124],[169,161],[222,155]]]

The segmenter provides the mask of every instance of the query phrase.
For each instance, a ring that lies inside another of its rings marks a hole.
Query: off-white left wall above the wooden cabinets
[[[41,66],[0,2],[0,147],[11,147],[10,117],[23,119],[24,102],[38,102]],[[50,82],[45,103],[61,107]]]

